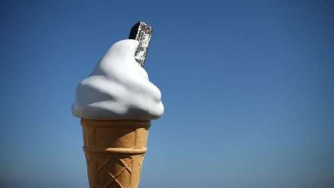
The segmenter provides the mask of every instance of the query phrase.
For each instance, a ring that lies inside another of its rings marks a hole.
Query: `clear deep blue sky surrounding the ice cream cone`
[[[166,108],[141,187],[333,187],[333,1],[0,4],[0,187],[88,187],[74,91],[138,20]]]

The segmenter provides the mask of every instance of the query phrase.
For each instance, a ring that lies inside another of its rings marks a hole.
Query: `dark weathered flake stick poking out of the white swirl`
[[[136,61],[144,67],[145,58],[148,54],[148,45],[150,45],[150,39],[152,35],[152,27],[144,22],[138,22],[135,24],[130,32],[129,39],[139,41],[138,48],[134,54]]]

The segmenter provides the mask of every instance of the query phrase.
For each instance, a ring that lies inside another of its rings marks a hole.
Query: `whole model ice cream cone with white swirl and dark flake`
[[[138,22],[131,39],[113,44],[77,87],[72,112],[81,118],[91,188],[138,187],[150,120],[164,113],[142,67],[151,33]]]

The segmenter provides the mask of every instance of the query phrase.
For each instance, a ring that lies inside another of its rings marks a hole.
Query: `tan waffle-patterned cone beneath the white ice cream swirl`
[[[147,150],[147,120],[81,118],[90,188],[137,188]]]

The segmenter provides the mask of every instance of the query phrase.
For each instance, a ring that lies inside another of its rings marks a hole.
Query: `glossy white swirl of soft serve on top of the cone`
[[[134,59],[138,41],[113,44],[77,87],[72,113],[95,120],[152,120],[164,113],[161,92]]]

